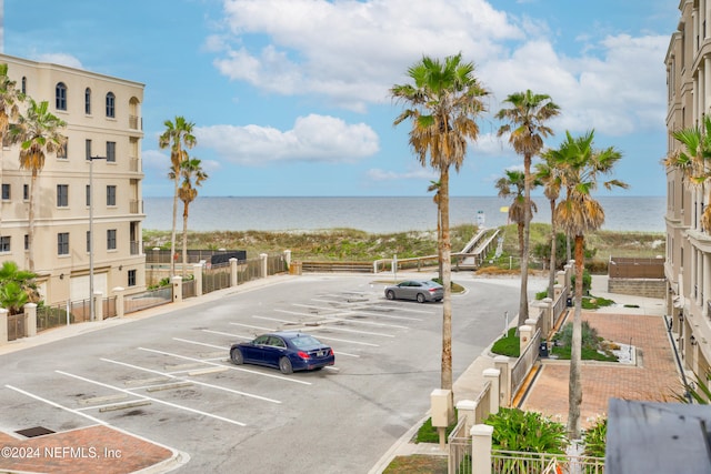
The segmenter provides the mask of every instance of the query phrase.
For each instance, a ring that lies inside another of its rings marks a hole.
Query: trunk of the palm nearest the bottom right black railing
[[[583,248],[584,236],[575,235],[575,311],[573,313],[573,336],[570,347],[570,379],[568,385],[568,436],[570,440],[580,437]]]

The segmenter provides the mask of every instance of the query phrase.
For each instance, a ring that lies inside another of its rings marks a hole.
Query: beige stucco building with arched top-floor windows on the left
[[[64,152],[47,155],[37,180],[33,254],[44,302],[89,299],[90,221],[94,293],[109,296],[119,286],[143,290],[144,85],[4,54],[0,62],[8,64],[19,90],[38,103],[48,101],[49,110],[67,122]],[[27,269],[30,172],[20,169],[17,144],[4,147],[1,159],[0,262],[11,260]]]

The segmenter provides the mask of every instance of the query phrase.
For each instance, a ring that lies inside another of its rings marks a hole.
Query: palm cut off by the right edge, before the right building
[[[711,115],[704,115],[702,125],[688,127],[672,133],[683,147],[667,159],[663,164],[681,172],[682,179],[691,186],[702,189],[711,179]],[[705,202],[711,202],[711,186]],[[711,205],[703,209],[701,228],[711,232]]]

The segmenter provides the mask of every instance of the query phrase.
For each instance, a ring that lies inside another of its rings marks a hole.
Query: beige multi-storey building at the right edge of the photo
[[[680,148],[672,132],[701,125],[711,113],[711,0],[681,0],[679,10],[665,58],[669,154]],[[710,189],[667,172],[667,313],[684,370],[703,381],[711,361],[711,233],[701,215]]]

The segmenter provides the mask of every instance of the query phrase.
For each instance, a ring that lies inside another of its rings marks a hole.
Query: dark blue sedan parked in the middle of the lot
[[[273,332],[230,347],[230,359],[237,365],[257,364],[277,367],[283,374],[320,370],[336,363],[333,350],[310,334]]]

